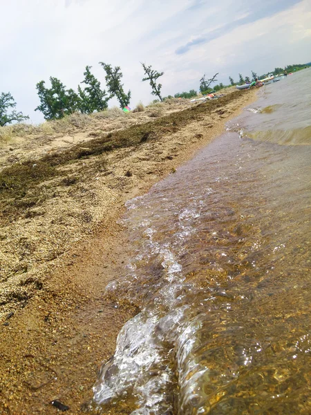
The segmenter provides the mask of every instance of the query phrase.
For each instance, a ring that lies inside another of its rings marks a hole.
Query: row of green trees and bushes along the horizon
[[[120,66],[111,66],[104,62],[100,62],[100,65],[104,69],[106,75],[106,89],[102,88],[99,80],[91,73],[91,66],[86,66],[84,71],[84,80],[77,86],[77,91],[73,89],[67,89],[59,79],[56,77],[50,77],[50,87],[46,86],[44,80],[37,83],[37,94],[39,96],[40,104],[35,111],[43,113],[46,120],[59,120],[65,116],[69,116],[75,112],[82,114],[96,113],[104,111],[108,108],[108,103],[111,98],[115,97],[120,104],[120,108],[128,106],[131,100],[131,90],[127,93],[124,91],[124,84],[122,84],[123,74]],[[285,68],[274,68],[274,71],[265,73],[261,76],[252,71],[252,77],[238,74],[238,82],[234,81],[234,78],[229,76],[229,84],[224,85],[221,82],[213,85],[217,82],[216,73],[210,79],[206,79],[205,74],[201,77],[199,83],[199,91],[202,95],[206,95],[213,91],[220,91],[221,89],[236,84],[244,84],[245,82],[252,82],[258,79],[266,77],[268,74],[273,73],[278,75],[287,71],[288,73],[294,71],[300,71],[301,69],[311,66],[309,64],[294,64],[285,66]],[[167,98],[194,98],[198,95],[197,91],[191,89],[189,92],[176,93],[174,96],[169,95],[166,98],[162,98],[161,88],[162,84],[158,84],[158,78],[164,75],[164,72],[155,71],[152,66],[142,64],[144,69],[144,77],[142,81],[149,81],[151,86],[151,94],[156,95],[157,99],[153,102],[159,102]],[[82,87],[83,84],[83,87]],[[21,122],[27,120],[29,117],[24,116],[23,113],[15,110],[16,102],[10,92],[1,93],[0,95],[0,127],[10,124],[12,122]],[[139,107],[141,111],[141,106]],[[138,110],[138,108],[137,108]],[[138,110],[139,111],[139,110]]]

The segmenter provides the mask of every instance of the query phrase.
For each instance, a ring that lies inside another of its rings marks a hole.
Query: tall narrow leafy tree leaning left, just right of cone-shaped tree
[[[106,72],[105,80],[111,97],[115,96],[117,98],[121,108],[126,107],[131,100],[131,91],[128,93],[124,92],[123,84],[121,83],[123,74],[120,66],[115,66],[115,68],[113,68],[111,65],[105,64],[104,62],[100,62],[100,64]]]

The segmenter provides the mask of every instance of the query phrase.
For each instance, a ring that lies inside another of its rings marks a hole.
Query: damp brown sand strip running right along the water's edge
[[[50,268],[44,268],[49,277],[45,275],[41,289],[38,286],[24,308],[3,320],[8,325],[1,326],[0,413],[54,414],[50,402],[55,399],[71,412],[81,412],[81,405],[92,397],[102,361],[115,350],[117,334],[139,311],[135,304],[115,308],[104,296],[106,284],[122,272],[127,235],[116,221],[124,203],[148,192],[193,158],[223,132],[228,120],[255,100],[256,91],[240,93],[223,106],[211,107],[199,120],[167,131],[160,140],[108,154],[106,163],[113,173],[99,176],[95,185],[104,183],[110,199],[100,199],[104,204],[97,208],[103,212],[94,230],[84,232],[84,241],[78,239]],[[107,409],[106,414],[130,411]]]

